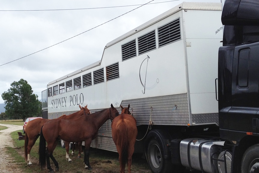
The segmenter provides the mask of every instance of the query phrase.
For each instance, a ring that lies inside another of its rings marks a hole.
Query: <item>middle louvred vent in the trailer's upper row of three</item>
[[[155,30],[138,38],[139,54],[143,54],[156,48]]]

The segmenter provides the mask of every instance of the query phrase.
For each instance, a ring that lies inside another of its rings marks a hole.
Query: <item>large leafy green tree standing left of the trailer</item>
[[[8,92],[2,94],[5,100],[5,114],[12,119],[41,116],[41,102],[37,94],[32,94],[32,87],[24,79],[11,83]]]

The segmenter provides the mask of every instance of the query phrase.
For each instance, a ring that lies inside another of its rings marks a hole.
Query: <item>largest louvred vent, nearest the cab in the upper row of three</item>
[[[158,45],[163,46],[181,39],[180,19],[158,28]]]

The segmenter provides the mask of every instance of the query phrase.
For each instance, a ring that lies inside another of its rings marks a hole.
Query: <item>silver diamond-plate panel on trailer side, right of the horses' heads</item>
[[[130,104],[137,125],[147,125],[151,119],[154,125],[187,125],[190,114],[187,94],[124,100],[121,105]],[[177,109],[175,109],[177,105]]]

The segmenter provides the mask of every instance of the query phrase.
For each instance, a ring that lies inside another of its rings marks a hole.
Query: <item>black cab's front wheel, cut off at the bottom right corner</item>
[[[241,173],[258,173],[259,172],[259,144],[249,147],[241,162]]]

